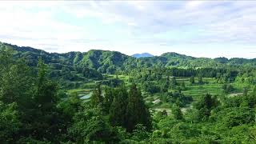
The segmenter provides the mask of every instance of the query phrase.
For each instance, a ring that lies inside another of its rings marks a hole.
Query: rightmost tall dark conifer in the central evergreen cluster
[[[135,84],[132,84],[128,94],[126,117],[126,129],[128,131],[134,130],[137,124],[146,126],[147,130],[151,129],[150,112],[145,106],[141,91],[137,89]]]

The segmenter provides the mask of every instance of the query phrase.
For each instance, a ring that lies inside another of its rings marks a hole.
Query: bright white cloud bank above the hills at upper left
[[[52,12],[49,10],[51,6],[58,6],[57,3],[27,2],[24,4],[21,2],[20,4],[6,2],[6,5],[0,6],[0,18],[2,19],[0,39],[2,42],[10,42],[19,46],[34,46],[50,52],[68,52],[83,50],[85,43],[77,46],[72,42],[74,40],[85,39],[87,42],[94,40],[89,36],[85,37],[82,27],[71,26],[52,18]],[[30,9],[35,7],[42,10],[30,12]]]

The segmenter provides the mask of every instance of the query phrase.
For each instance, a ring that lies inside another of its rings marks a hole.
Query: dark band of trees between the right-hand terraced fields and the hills
[[[132,79],[136,81],[154,81],[161,80],[166,77],[204,77],[204,78],[219,78],[224,79],[223,81],[234,82],[234,79],[238,74],[246,73],[245,71],[238,69],[228,68],[200,68],[200,69],[182,69],[182,68],[144,68],[134,69],[130,72],[126,72]]]

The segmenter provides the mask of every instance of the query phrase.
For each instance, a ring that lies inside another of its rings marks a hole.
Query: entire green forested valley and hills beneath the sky
[[[0,42],[0,143],[256,143],[256,58]]]

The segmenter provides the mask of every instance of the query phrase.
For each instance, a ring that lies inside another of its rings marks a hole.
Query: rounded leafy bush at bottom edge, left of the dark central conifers
[[[98,108],[79,111],[74,116],[74,123],[68,129],[70,138],[77,143],[115,142],[114,131],[102,118]]]

